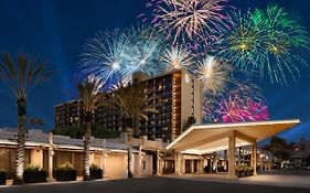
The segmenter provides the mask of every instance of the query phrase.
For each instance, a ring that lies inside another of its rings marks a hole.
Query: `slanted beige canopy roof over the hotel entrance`
[[[299,119],[238,124],[206,124],[189,128],[167,149],[183,153],[210,153],[228,149],[228,136],[234,132],[236,147],[264,140],[300,124]]]

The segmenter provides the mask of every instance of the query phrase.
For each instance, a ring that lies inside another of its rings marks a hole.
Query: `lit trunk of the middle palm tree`
[[[90,136],[92,136],[92,122],[87,120],[85,139],[84,139],[84,180],[90,180],[89,171],[89,148],[90,148]]]

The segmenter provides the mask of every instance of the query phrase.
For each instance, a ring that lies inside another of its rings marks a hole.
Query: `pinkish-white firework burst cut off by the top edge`
[[[227,0],[151,0],[154,26],[167,33],[173,44],[179,40],[201,37],[205,31],[212,33],[226,26],[223,14]]]

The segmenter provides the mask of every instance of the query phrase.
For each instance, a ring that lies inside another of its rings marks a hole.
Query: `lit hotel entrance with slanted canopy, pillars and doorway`
[[[175,152],[175,173],[220,173],[228,179],[246,171],[256,175],[257,141],[298,125],[298,119],[192,126],[170,144]],[[248,147],[245,159],[240,147]],[[238,150],[238,151],[237,151]],[[215,153],[216,152],[216,153]],[[218,152],[222,152],[220,156]],[[173,164],[173,163],[172,163]],[[239,170],[238,167],[245,169]]]

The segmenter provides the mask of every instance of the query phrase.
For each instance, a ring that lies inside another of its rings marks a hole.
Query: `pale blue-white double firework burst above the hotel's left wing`
[[[131,79],[133,72],[156,75],[163,71],[159,63],[162,39],[147,28],[98,33],[83,47],[82,76],[95,75],[109,88]]]

